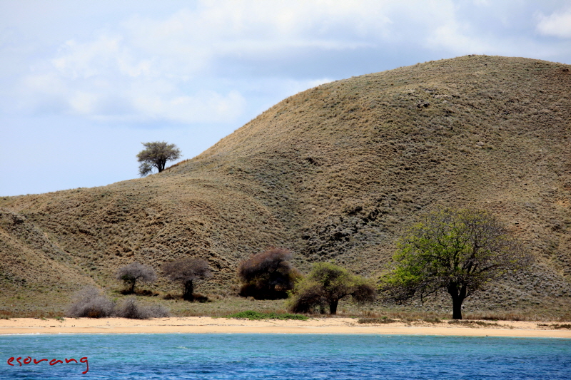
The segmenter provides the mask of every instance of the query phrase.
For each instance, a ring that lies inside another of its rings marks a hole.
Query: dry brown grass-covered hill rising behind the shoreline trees
[[[302,271],[333,260],[375,277],[419,213],[450,205],[490,210],[537,259],[466,307],[565,313],[570,68],[464,56],[348,78],[285,99],[163,173],[0,197],[0,305],[61,308],[81,284],[118,287],[121,265],[186,255],[213,269],[199,291],[231,294],[239,262],[271,245],[293,250]]]

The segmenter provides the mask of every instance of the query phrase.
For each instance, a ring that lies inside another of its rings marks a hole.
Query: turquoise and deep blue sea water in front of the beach
[[[336,334],[4,335],[0,336],[0,356],[1,380],[571,379],[571,339]],[[12,357],[14,366],[9,365]],[[34,364],[34,359],[48,360]],[[66,364],[65,359],[76,359],[77,363]],[[82,374],[88,365],[89,371]]]

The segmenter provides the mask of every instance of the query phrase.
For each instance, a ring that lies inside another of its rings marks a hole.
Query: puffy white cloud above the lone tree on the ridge
[[[103,121],[218,123],[242,113],[246,101],[238,91],[183,91],[185,78],[173,75],[157,57],[153,51],[133,53],[122,36],[70,40],[50,66],[39,65],[26,76],[24,86],[34,94],[36,110],[49,111],[57,98],[57,109]]]

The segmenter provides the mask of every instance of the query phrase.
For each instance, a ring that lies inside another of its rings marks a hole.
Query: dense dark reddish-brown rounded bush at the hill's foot
[[[242,281],[240,295],[255,299],[280,299],[288,297],[295,279],[301,274],[290,264],[291,252],[272,247],[253,255],[238,267]]]

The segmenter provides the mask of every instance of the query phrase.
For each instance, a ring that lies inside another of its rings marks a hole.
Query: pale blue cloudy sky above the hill
[[[0,196],[138,178],[300,91],[486,54],[571,64],[570,0],[0,0]]]

